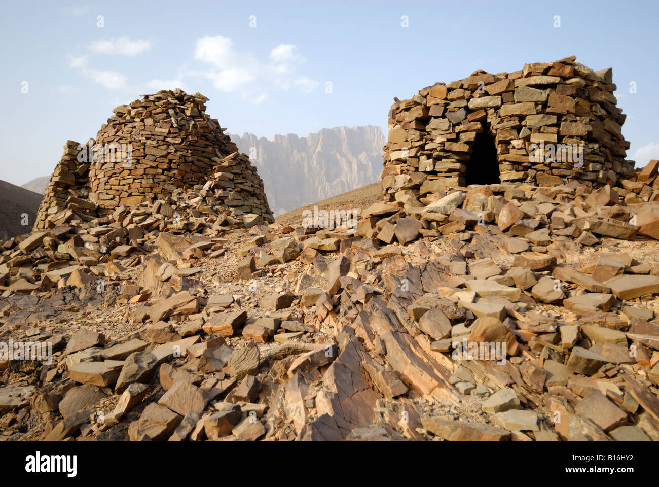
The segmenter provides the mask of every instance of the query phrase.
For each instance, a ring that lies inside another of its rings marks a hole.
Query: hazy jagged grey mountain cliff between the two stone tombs
[[[230,137],[256,165],[275,215],[377,181],[386,143],[374,125],[275,135],[272,141],[251,133]]]

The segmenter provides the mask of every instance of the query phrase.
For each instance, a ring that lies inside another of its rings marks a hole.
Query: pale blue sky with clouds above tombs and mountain
[[[516,71],[569,55],[592,69],[614,68],[628,158],[645,165],[659,158],[658,5],[6,3],[0,179],[20,185],[50,174],[66,141],[95,137],[112,108],[181,84],[210,98],[206,112],[230,133],[303,137],[339,125],[386,131],[394,96],[411,98],[476,69]]]

